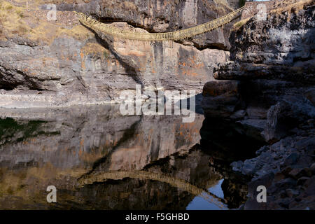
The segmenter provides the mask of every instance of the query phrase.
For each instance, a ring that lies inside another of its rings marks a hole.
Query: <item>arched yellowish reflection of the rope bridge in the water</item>
[[[207,202],[212,204],[216,204],[217,207],[223,209],[226,207],[224,203],[226,201],[212,193],[203,190],[202,188],[198,188],[188,181],[184,181],[182,179],[176,179],[173,176],[167,174],[146,172],[146,171],[111,171],[111,172],[100,172],[98,174],[87,174],[86,176],[81,177],[78,180],[79,187],[83,187],[84,185],[92,184],[95,182],[104,182],[108,179],[111,180],[120,180],[120,179],[140,179],[140,180],[151,180],[151,181],[160,181],[164,183],[168,183],[169,185],[184,190],[192,195],[200,196]]]

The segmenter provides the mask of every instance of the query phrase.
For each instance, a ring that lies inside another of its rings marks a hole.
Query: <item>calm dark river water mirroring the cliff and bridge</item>
[[[246,200],[247,180],[230,162],[250,158],[255,142],[201,114],[194,123],[121,116],[118,106],[0,114],[0,209],[235,209]],[[57,203],[46,201],[48,186]]]

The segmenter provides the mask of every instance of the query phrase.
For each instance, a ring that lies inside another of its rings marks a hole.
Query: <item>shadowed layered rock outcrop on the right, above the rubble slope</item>
[[[214,69],[217,81],[204,85],[206,114],[257,126],[266,141],[314,118],[313,12],[314,6],[297,3],[232,31],[230,61]]]

